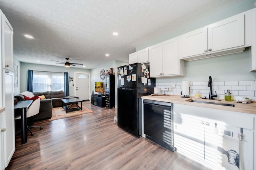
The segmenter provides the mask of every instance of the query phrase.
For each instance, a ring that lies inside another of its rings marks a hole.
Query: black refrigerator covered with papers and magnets
[[[150,78],[149,65],[129,64],[118,67],[117,125],[125,131],[142,135],[142,96],[153,94],[156,79]]]

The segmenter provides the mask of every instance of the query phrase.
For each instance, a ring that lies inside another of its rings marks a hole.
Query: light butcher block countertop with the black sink
[[[190,105],[190,106],[207,107],[207,108],[212,108],[212,109],[237,111],[237,112],[250,113],[250,114],[256,115],[256,102],[242,104],[242,103],[236,103],[235,101],[226,102],[224,99],[219,101],[219,100],[196,99],[194,97],[182,98],[181,96],[142,96],[142,99],[156,100],[156,101],[161,101],[161,102],[169,102],[169,103],[174,103],[174,104],[186,104],[186,105]],[[222,106],[222,105],[216,105],[216,104],[204,104],[204,103],[189,102],[190,100],[234,104],[234,107]]]

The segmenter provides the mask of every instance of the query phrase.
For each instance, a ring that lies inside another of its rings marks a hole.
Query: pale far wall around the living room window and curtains
[[[50,66],[43,64],[31,64],[31,63],[20,63],[20,92],[24,92],[27,90],[27,81],[28,81],[28,70],[35,71],[52,71],[52,72],[68,72],[68,76],[74,78],[74,72],[84,72],[90,73],[90,70],[76,67],[66,68],[64,66]],[[74,86],[69,86],[69,94],[70,96],[74,96]],[[15,95],[19,94],[17,92]]]

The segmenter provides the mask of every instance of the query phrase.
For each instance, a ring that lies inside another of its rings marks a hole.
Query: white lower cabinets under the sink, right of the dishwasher
[[[254,119],[246,113],[174,103],[174,146],[177,152],[216,170],[236,169],[235,163],[240,170],[253,170]],[[228,163],[226,155],[231,150],[239,154],[239,162],[232,157]]]

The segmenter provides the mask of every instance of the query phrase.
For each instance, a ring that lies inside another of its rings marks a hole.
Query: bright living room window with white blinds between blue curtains
[[[33,92],[64,91],[64,73],[33,71]]]

